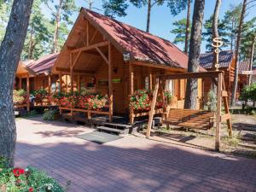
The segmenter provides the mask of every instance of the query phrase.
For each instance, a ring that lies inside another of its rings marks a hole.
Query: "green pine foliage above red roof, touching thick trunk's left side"
[[[179,44],[179,43],[184,44],[185,40],[186,40],[187,19],[184,18],[182,20],[176,20],[172,23],[172,25],[175,28],[172,29],[171,32],[176,35],[173,43],[174,44]],[[190,31],[190,29],[191,29],[191,23],[189,25],[189,31]]]

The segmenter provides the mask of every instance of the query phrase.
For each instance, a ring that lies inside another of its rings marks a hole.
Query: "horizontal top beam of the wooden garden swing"
[[[212,72],[199,72],[199,73],[175,73],[170,75],[165,75],[166,79],[205,79],[205,78],[218,78],[219,73],[224,73],[222,71],[212,71]],[[160,78],[163,75],[160,76]]]

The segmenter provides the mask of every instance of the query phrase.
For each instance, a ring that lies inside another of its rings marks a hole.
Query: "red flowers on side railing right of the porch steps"
[[[165,100],[167,104],[172,102],[172,94],[169,91],[164,92]],[[130,108],[136,110],[137,112],[149,111],[151,102],[153,100],[152,90],[136,90],[130,96]],[[163,108],[163,100],[160,95],[157,96],[155,108]]]

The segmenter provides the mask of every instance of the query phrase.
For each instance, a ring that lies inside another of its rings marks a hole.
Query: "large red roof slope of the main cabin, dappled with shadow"
[[[178,49],[170,41],[143,32],[133,26],[100,15],[89,9],[84,10],[85,15],[94,20],[108,34],[137,61],[163,64],[170,67],[188,68],[188,55]]]

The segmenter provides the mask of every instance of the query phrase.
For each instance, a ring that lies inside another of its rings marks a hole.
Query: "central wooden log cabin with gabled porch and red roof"
[[[70,74],[71,91],[94,86],[108,94],[109,120],[130,113],[132,123],[139,115],[129,108],[129,95],[153,89],[160,74],[186,72],[187,65],[188,56],[166,39],[82,8],[52,73]],[[177,96],[175,108],[183,108],[185,80],[166,84]],[[201,80],[199,87],[201,100]]]

